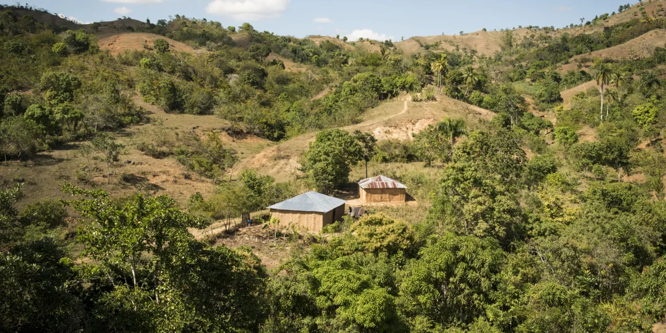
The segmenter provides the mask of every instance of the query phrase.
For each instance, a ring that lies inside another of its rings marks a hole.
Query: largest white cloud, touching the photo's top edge
[[[271,19],[289,7],[290,0],[214,0],[206,13],[227,15],[236,21]]]

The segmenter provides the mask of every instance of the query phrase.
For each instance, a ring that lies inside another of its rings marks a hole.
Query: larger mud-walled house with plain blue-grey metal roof
[[[296,224],[320,232],[326,224],[342,220],[345,200],[318,192],[307,192],[284,200],[267,208],[270,215],[280,219],[280,224]]]

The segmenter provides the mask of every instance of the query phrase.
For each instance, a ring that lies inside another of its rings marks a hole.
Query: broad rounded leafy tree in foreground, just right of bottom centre
[[[398,308],[408,318],[471,323],[484,314],[504,254],[492,237],[446,233],[432,238],[398,277]]]

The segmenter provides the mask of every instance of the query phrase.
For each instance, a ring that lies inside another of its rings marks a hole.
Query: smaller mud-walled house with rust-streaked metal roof
[[[387,176],[374,176],[358,182],[361,202],[405,202],[407,186]]]

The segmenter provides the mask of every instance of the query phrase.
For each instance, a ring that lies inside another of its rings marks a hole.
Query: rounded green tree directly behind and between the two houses
[[[362,156],[362,145],[348,132],[324,130],[310,144],[302,171],[318,191],[330,193],[335,186],[348,182],[350,166]]]

